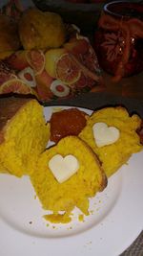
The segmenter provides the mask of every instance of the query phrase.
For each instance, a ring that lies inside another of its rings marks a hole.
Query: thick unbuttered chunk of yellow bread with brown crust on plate
[[[0,99],[0,172],[30,175],[50,137],[43,106],[34,99]]]

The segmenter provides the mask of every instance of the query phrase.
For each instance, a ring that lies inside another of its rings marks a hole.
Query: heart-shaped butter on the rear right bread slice
[[[99,148],[114,143],[120,136],[118,128],[108,127],[106,123],[96,123],[92,130],[95,143]]]

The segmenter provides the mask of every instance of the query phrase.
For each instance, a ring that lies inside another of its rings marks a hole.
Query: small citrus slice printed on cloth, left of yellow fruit
[[[45,55],[42,50],[31,50],[26,52],[26,58],[35,75],[41,74],[45,66]]]

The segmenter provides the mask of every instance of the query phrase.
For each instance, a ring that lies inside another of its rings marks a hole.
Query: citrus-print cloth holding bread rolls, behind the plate
[[[104,89],[91,42],[78,28],[56,12],[32,7],[13,20],[8,10],[0,15],[0,95],[30,94],[47,103]]]

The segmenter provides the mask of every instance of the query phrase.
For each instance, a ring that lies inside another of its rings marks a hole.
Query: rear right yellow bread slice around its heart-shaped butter
[[[105,123],[108,127],[119,130],[119,138],[110,145],[97,147],[93,134],[96,123]],[[107,176],[115,173],[127,163],[133,152],[143,149],[136,129],[140,128],[141,119],[136,114],[129,116],[128,111],[121,106],[106,107],[92,113],[87,126],[80,132],[79,137],[87,142],[97,154]]]

